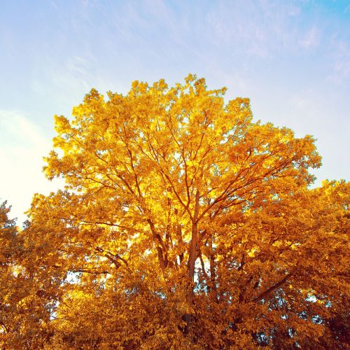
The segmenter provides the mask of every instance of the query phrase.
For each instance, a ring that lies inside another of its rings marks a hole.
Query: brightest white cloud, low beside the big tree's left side
[[[12,205],[11,217],[25,221],[34,193],[48,194],[62,182],[48,181],[41,169],[51,140],[29,118],[18,111],[0,111],[0,200]]]

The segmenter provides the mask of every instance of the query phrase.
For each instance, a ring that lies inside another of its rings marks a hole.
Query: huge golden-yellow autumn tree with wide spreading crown
[[[66,187],[34,197],[25,235],[43,279],[61,281],[50,346],[332,338],[330,314],[348,302],[337,259],[349,187],[309,190],[321,164],[312,137],[254,123],[249,100],[225,104],[224,93],[191,75],[175,87],[136,81],[55,117],[45,174]]]

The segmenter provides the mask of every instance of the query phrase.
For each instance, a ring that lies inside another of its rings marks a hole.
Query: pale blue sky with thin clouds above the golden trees
[[[188,73],[255,120],[316,137],[323,179],[349,180],[350,1],[1,1],[0,198],[20,221],[41,174],[53,115],[91,87],[169,84]]]

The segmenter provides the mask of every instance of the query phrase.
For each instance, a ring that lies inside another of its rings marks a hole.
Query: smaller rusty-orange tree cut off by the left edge
[[[53,275],[37,265],[38,257],[34,257],[32,248],[40,246],[40,242],[26,241],[24,232],[28,223],[21,230],[9,215],[10,207],[3,202],[0,206],[0,346],[1,349],[38,349],[52,335],[50,317],[57,300],[54,297],[57,284],[50,290]],[[58,284],[60,281],[57,279]]]

